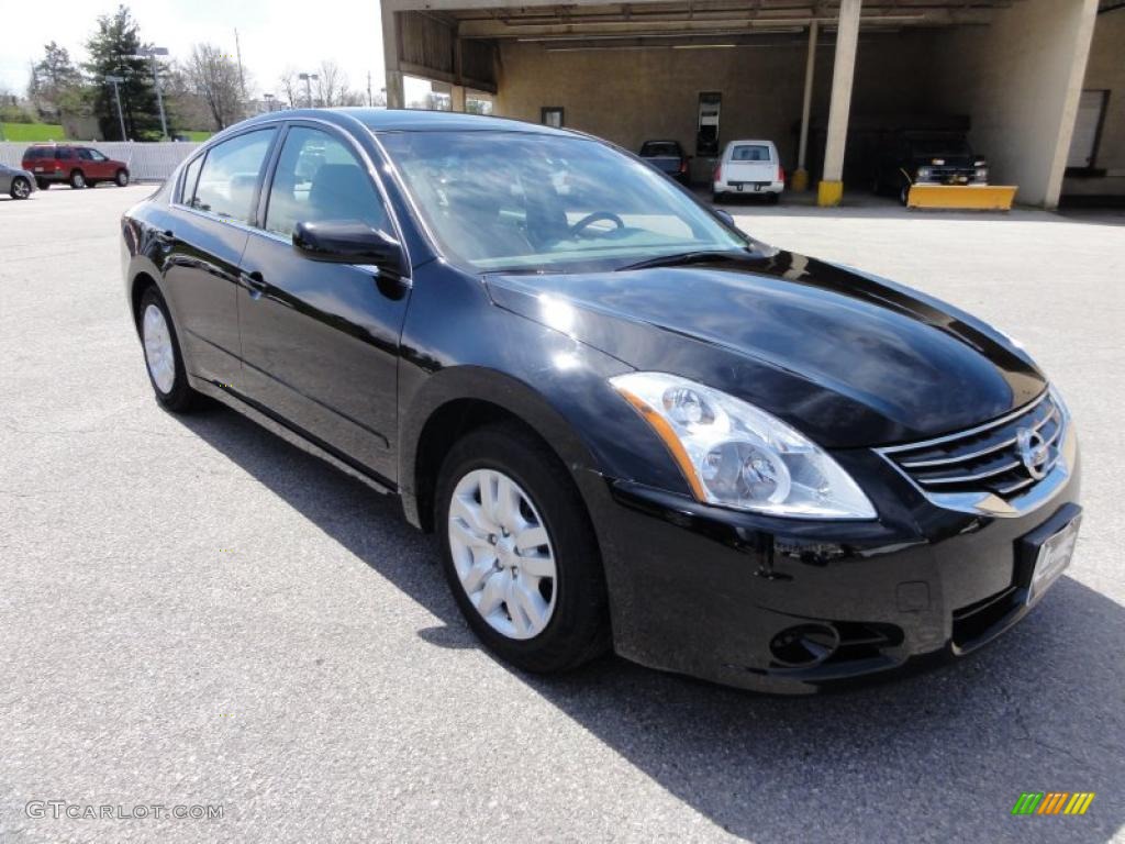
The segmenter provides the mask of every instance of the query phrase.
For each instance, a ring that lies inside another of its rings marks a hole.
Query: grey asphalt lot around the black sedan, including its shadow
[[[162,412],[117,237],[152,189],[0,199],[0,841],[1125,841],[1120,215],[731,208],[1022,340],[1083,449],[1073,566],[1024,623],[786,699],[512,671],[393,501],[227,410]],[[1012,817],[1024,791],[1097,797]]]

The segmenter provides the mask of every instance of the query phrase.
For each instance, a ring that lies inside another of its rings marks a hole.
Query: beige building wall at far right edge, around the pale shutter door
[[[1068,178],[1063,195],[1125,196],[1125,9],[1098,16],[1082,88],[1109,91],[1095,162],[1106,174]]]

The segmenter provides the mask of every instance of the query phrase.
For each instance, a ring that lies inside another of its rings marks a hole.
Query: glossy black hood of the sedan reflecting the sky
[[[835,448],[964,430],[1040,395],[1010,339],[916,290],[792,252],[492,275],[493,302],[641,370],[741,397]]]

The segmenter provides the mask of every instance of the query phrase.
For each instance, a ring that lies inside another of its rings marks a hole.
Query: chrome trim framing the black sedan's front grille
[[[926,488],[920,483],[915,481],[910,474],[902,468],[891,455],[901,451],[914,451],[917,449],[922,449],[927,447],[933,447],[942,445],[944,442],[950,442],[952,440],[964,439],[965,437],[972,437],[974,434],[981,433],[983,431],[992,430],[1004,425],[1012,420],[1019,419],[1032,411],[1034,411],[1042,402],[1044,402],[1048,396],[1053,396],[1054,390],[1047,388],[1043,390],[1043,395],[1036,398],[1034,402],[1024,405],[1017,411],[1001,416],[1000,419],[988,422],[983,425],[978,425],[976,428],[971,428],[966,431],[961,431],[960,433],[947,434],[945,437],[938,437],[932,440],[924,440],[921,442],[910,442],[902,446],[888,446],[885,448],[873,449],[875,454],[881,456],[886,463],[889,463],[896,472],[898,472],[902,477],[904,477],[915,490],[917,490],[927,501],[932,504],[939,506],[944,510],[954,510],[961,513],[972,513],[973,515],[987,515],[998,519],[1016,519],[1022,515],[1026,515],[1044,506],[1051,502],[1066,485],[1066,482],[1071,476],[1071,467],[1077,465],[1078,461],[1078,433],[1074,430],[1074,425],[1071,424],[1071,415],[1063,404],[1062,399],[1054,396],[1054,405],[1059,412],[1059,425],[1062,433],[1062,443],[1059,447],[1055,461],[1051,470],[1040,481],[1030,478],[1024,486],[1029,486],[1027,492],[1023,495],[1011,499],[1010,501],[1005,501],[999,495],[996,495],[988,491],[981,492],[969,492],[969,493],[942,493],[934,491],[932,488]],[[1016,486],[1014,491],[1022,488]]]

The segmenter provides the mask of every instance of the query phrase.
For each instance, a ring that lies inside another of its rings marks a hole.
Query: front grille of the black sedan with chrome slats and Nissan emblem
[[[929,495],[990,493],[1011,501],[1059,463],[1065,425],[1062,407],[1044,393],[987,425],[881,452]]]

